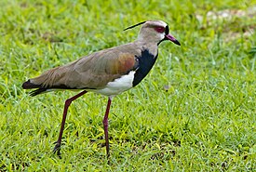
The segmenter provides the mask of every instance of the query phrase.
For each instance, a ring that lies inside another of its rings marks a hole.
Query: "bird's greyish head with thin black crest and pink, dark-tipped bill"
[[[147,20],[128,27],[126,30],[141,25],[141,31],[138,39],[146,42],[155,42],[159,45],[162,41],[169,40],[174,44],[181,46],[179,41],[169,33],[168,24],[162,20]]]

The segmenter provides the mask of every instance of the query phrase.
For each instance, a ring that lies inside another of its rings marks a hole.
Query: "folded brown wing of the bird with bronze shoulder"
[[[40,88],[97,89],[114,81],[138,66],[135,54],[128,48],[110,48],[80,60],[51,69],[31,79]],[[135,51],[136,52],[136,51]],[[34,87],[32,87],[34,88]]]

